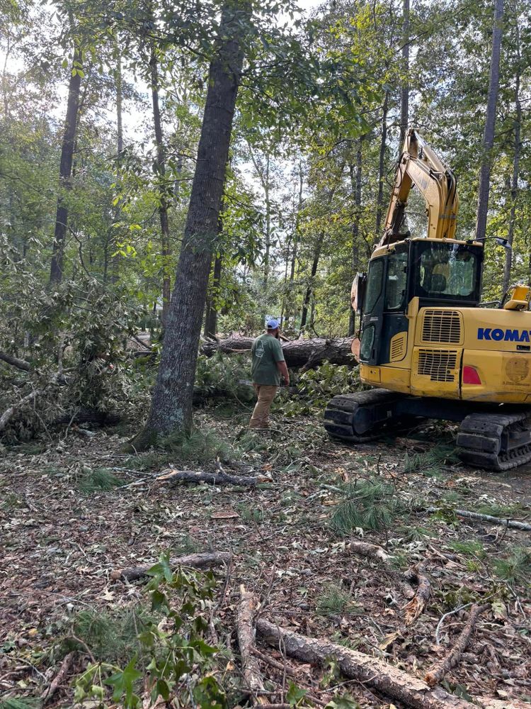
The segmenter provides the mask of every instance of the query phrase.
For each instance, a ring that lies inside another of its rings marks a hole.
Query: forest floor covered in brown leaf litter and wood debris
[[[229,576],[216,571],[219,587],[224,580],[228,587],[215,622],[219,641],[235,658],[242,583],[266,599],[263,615],[278,625],[358,649],[417,677],[455,643],[469,607],[445,619],[438,644],[442,615],[486,599],[491,608],[480,616],[444,686],[492,707],[529,706],[530,533],[462,519],[455,510],[529,521],[531,470],[476,471],[448,459],[451,444],[438,455],[440,442],[451,441],[451,429],[442,425],[348,447],[329,440],[316,418],[278,414],[277,430],[246,432],[247,415],[206,409],[196,413],[196,423],[229,447],[226,471],[270,477],[260,489],[155,481],[169,463],[214,471],[215,461],[194,462],[193,453],[186,463],[167,454],[126,456],[120,452],[125,432],[112,429],[72,428],[66,438],[63,431],[56,440],[4,450],[0,697],[40,696],[57,675],[60,641],[74,632],[76,614],[89,610],[116,618],[132,604],[147,603],[142,583],[124,583],[112,572],[154,563],[170,549],[234,555]],[[107,491],[98,487],[95,471],[101,468],[116,476]],[[349,518],[348,483],[364,481],[378,493]],[[439,511],[428,512],[430,506]],[[346,533],[349,524],[354,528]],[[346,551],[344,542],[353,539],[382,545],[395,570]],[[401,574],[419,563],[431,596],[406,625],[408,585]],[[392,705],[369,686],[338,678],[333,666],[324,676],[258,644],[287,668],[260,661],[271,703],[285,701],[291,669],[297,686],[321,705],[346,692],[362,707]],[[237,664],[230,665],[234,676]],[[72,679],[64,678],[48,706],[73,705]]]

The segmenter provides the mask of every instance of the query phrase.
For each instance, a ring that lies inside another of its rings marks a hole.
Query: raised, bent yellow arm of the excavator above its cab
[[[416,130],[409,130],[396,167],[393,194],[384,233],[378,246],[404,239],[400,233],[411,187],[415,185],[426,201],[428,232],[434,239],[455,238],[459,199],[456,179],[435,152],[426,145]]]

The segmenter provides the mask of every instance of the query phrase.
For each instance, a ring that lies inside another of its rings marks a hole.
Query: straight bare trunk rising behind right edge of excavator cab
[[[479,173],[479,192],[477,204],[476,239],[486,237],[486,219],[489,211],[489,184],[491,180],[491,152],[494,145],[494,125],[496,123],[496,103],[500,84],[500,52],[503,21],[503,0],[496,0],[494,26],[492,30],[491,71],[489,76],[489,94],[485,130],[483,135],[483,155]]]

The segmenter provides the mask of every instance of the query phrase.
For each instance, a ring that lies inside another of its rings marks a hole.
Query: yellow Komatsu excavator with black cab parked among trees
[[[422,235],[404,231],[413,186],[426,202]],[[420,417],[452,420],[464,462],[507,470],[531,460],[531,289],[481,306],[484,239],[455,238],[458,208],[455,176],[409,130],[384,233],[351,294],[360,378],[377,389],[334,396],[324,425],[365,442]]]

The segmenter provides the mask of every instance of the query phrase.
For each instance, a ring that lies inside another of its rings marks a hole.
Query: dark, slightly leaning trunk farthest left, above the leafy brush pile
[[[74,50],[72,71],[81,67],[81,51]],[[64,121],[64,133],[59,162],[59,194],[57,196],[57,213],[55,216],[55,232],[50,264],[50,284],[58,284],[63,277],[64,240],[67,235],[68,206],[64,201],[63,191],[72,189],[72,163],[74,162],[74,145],[76,142],[77,118],[79,113],[79,89],[81,76],[79,73],[70,76],[68,85],[67,116]]]

